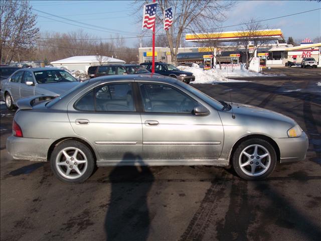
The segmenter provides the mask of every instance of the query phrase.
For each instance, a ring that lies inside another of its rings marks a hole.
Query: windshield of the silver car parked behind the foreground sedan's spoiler
[[[78,81],[65,70],[42,70],[35,71],[34,74],[38,84]]]

